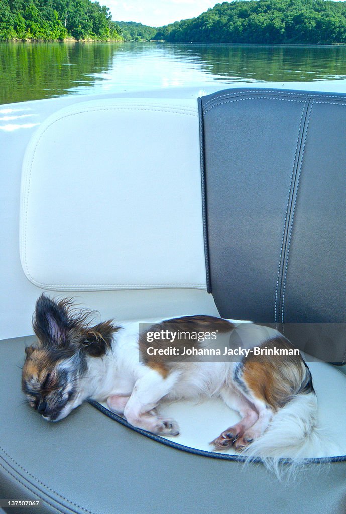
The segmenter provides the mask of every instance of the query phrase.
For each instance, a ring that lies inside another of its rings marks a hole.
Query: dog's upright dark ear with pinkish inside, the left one
[[[32,327],[43,346],[64,346],[69,331],[76,326],[73,316],[69,315],[70,300],[56,302],[44,293],[36,302]]]

